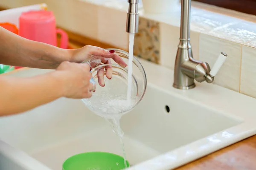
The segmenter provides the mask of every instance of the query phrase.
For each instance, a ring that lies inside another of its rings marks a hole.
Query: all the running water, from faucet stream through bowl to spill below
[[[125,96],[115,96],[113,94],[93,94],[90,99],[82,99],[88,108],[94,111],[99,116],[105,117],[111,124],[112,130],[119,136],[122,146],[122,153],[124,158],[125,168],[127,167],[127,159],[125,154],[125,147],[123,142],[124,132],[120,127],[120,119],[122,114],[131,110],[134,105],[134,99],[131,99],[132,86],[132,64],[133,64],[133,48],[134,48],[134,34],[129,34],[129,62],[128,62],[128,88],[127,99]],[[119,116],[116,116],[119,115]]]

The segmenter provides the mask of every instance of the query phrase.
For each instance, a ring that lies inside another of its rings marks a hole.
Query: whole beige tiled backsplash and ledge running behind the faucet
[[[23,6],[39,0],[25,1]],[[54,11],[58,26],[128,50],[129,38],[125,32],[128,3],[125,0],[43,1]],[[17,7],[15,2],[4,1],[0,6]],[[228,58],[216,75],[215,83],[256,98],[256,23],[230,17],[234,12],[221,14],[223,11],[219,13],[216,7],[207,10],[202,6],[192,7],[190,37],[194,58],[212,66],[221,51],[225,52]],[[180,9],[169,16],[143,14],[142,9],[139,13],[134,53],[173,69],[180,36]],[[237,13],[236,17],[239,15],[242,14]],[[251,21],[252,18],[250,16]]]

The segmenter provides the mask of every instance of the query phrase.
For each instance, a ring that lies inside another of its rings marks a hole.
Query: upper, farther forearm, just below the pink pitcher
[[[72,50],[27,40],[0,27],[0,63],[31,68],[55,69],[70,61]]]

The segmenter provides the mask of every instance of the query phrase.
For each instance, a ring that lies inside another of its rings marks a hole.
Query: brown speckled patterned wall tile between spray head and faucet
[[[159,22],[140,17],[139,31],[134,37],[134,55],[159,64],[159,39]]]

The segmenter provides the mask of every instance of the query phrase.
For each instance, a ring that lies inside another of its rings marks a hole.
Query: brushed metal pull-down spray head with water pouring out
[[[138,13],[138,3],[139,0],[128,0],[129,9],[127,11],[126,20],[126,32],[137,33],[139,25],[139,13]]]

